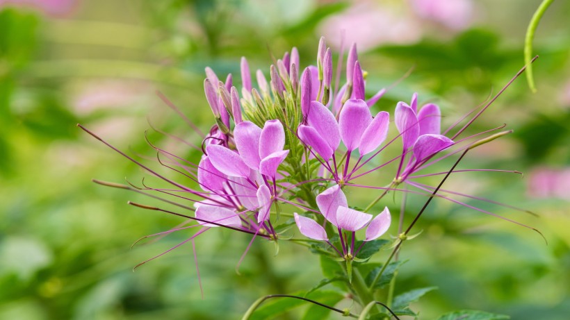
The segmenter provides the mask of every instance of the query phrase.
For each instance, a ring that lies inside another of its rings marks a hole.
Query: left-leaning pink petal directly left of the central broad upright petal
[[[311,108],[307,116],[309,126],[317,130],[332,151],[335,151],[341,143],[341,135],[339,133],[339,124],[334,119],[334,115],[329,108],[323,106],[323,103],[311,101]]]

